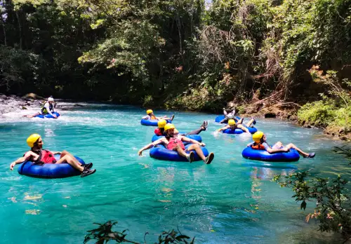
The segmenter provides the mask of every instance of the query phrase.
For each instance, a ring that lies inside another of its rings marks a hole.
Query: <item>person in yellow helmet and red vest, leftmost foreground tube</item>
[[[43,149],[43,140],[41,140],[41,136],[38,134],[29,135],[27,138],[27,144],[30,147],[30,151],[27,151],[25,155],[18,160],[14,161],[10,165],[10,169],[13,170],[16,164],[23,163],[25,161],[32,161],[37,165],[44,165],[45,163],[68,163],[73,168],[81,171],[81,177],[86,177],[88,175],[93,174],[96,170],[91,170],[93,167],[93,163],[88,163],[86,165],[81,165],[77,158],[75,158],[72,154],[69,154],[68,151],[48,151]],[[61,154],[60,159],[58,161],[55,160],[53,155]]]

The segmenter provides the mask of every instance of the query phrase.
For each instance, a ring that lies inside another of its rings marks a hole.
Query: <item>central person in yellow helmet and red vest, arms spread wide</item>
[[[200,147],[205,146],[204,143],[197,142],[196,140],[192,140],[183,135],[175,136],[175,129],[176,128],[173,126],[173,124],[166,124],[166,126],[164,127],[164,130],[166,131],[166,137],[162,137],[157,141],[147,144],[145,147],[138,151],[138,155],[142,156],[144,150],[150,149],[158,144],[164,144],[164,146],[167,149],[177,151],[180,156],[187,158],[187,161],[189,161],[190,163],[194,161],[194,152],[192,150],[195,150],[197,152],[197,155],[199,155],[199,157],[204,161],[204,163],[210,164],[213,161],[215,155],[212,152],[208,154],[207,157],[204,156],[204,153],[202,152]],[[190,145],[190,147],[188,147],[187,149],[185,149],[183,142],[190,142],[193,144]],[[189,151],[189,154],[187,154],[187,151]]]

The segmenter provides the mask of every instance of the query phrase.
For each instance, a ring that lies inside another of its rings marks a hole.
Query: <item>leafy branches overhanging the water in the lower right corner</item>
[[[351,235],[351,201],[347,179],[340,175],[336,179],[309,177],[310,172],[304,171],[289,176],[277,175],[273,180],[295,192],[292,197],[301,201],[301,209],[305,210],[308,201],[317,201],[314,213],[306,217],[307,222],[316,218],[319,231],[340,232],[348,239]]]

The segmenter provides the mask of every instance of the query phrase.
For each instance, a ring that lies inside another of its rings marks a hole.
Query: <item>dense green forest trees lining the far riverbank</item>
[[[351,0],[0,4],[2,93],[208,111],[266,97],[350,116]]]

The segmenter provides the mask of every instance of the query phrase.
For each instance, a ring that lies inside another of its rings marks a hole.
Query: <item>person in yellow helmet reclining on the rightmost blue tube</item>
[[[305,151],[302,151],[292,143],[287,144],[284,147],[282,142],[277,142],[276,144],[273,145],[273,147],[270,147],[270,145],[267,144],[267,137],[265,136],[265,134],[263,134],[262,131],[258,131],[254,133],[252,135],[252,139],[253,139],[253,142],[248,144],[247,147],[251,147],[252,149],[256,149],[256,150],[265,150],[265,151],[268,151],[270,154],[274,154],[277,152],[286,152],[286,151],[289,151],[290,149],[295,149],[304,158],[314,158],[314,156],[316,156],[316,154],[314,153],[310,153],[310,154],[305,153]]]

